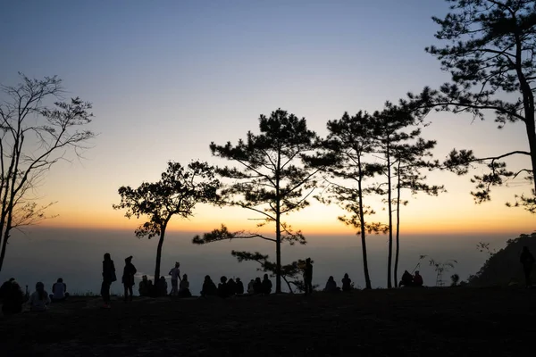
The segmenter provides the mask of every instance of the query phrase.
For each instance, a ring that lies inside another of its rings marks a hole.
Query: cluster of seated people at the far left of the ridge
[[[45,284],[38,282],[36,291],[29,295],[28,286],[26,293],[22,293],[21,286],[15,278],[10,278],[0,286],[0,299],[2,300],[2,312],[11,315],[22,311],[22,306],[27,303],[30,311],[46,311],[50,303],[58,303],[69,297],[67,285],[63,278],[58,278],[52,286],[52,294],[48,295]]]

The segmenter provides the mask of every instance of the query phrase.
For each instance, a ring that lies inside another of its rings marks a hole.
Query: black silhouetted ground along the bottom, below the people
[[[535,318],[536,290],[525,289],[138,300],[110,310],[75,298],[0,318],[0,354],[519,355],[532,352]]]

